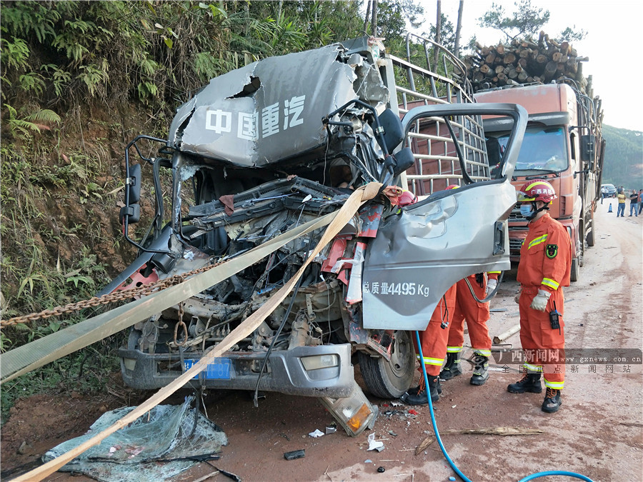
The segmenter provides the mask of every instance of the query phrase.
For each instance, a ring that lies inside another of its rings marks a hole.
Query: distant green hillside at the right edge
[[[603,184],[643,189],[643,132],[603,126]]]

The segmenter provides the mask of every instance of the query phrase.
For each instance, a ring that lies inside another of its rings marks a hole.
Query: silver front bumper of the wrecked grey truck
[[[327,368],[306,370],[301,358],[307,356],[337,355],[337,365]],[[198,388],[221,388],[254,390],[259,377],[261,363],[266,353],[227,352],[224,378],[209,378],[201,372],[198,379],[186,386]],[[168,385],[183,373],[183,367],[190,361],[197,361],[201,353],[184,353],[183,360],[175,353],[144,353],[140,350],[119,348],[121,373],[126,385],[151,390]],[[349,396],[354,381],[351,364],[351,345],[299,346],[287,351],[270,354],[266,369],[259,382],[259,390],[276,391],[289,395]]]

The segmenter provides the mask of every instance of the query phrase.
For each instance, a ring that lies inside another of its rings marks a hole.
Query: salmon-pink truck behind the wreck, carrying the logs
[[[572,239],[572,281],[579,278],[585,243],[594,246],[594,211],[600,199],[605,142],[598,98],[590,99],[576,81],[562,79],[550,84],[508,85],[480,90],[479,103],[511,102],[529,113],[512,184],[520,189],[530,179],[545,179],[558,194],[549,215],[560,221]],[[492,164],[504,155],[509,139],[507,119],[487,118],[484,133]],[[518,206],[509,216],[509,249],[519,260],[527,236],[527,220]]]

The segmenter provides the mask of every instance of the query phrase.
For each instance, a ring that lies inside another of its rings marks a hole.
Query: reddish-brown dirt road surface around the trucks
[[[607,210],[607,201],[599,205],[596,245],[586,249],[579,281],[565,289],[567,348],[600,348],[601,353],[609,353],[609,348],[642,348],[643,217],[617,219]],[[492,337],[519,322],[513,301],[516,286],[515,270],[510,271],[492,300]],[[506,343],[519,348],[519,335]],[[563,405],[554,414],[540,411],[542,394],[507,392],[507,384],[519,378],[517,367],[492,365],[494,371],[484,386],[469,385],[468,373],[442,384],[444,393],[435,405],[437,425],[449,456],[466,476],[473,481],[517,481],[537,471],[566,470],[594,481],[643,480],[640,363],[568,364]],[[359,367],[355,369],[362,383]],[[184,394],[171,401],[178,403]],[[309,432],[324,431],[333,422],[314,398],[268,393],[254,408],[245,392],[211,394],[206,398],[207,414],[229,438],[221,458],[211,463],[244,481],[406,482],[448,481],[455,476],[437,443],[415,455],[419,443],[433,433],[428,406],[407,407],[367,395],[380,411],[373,431],[352,438],[340,428],[311,438]],[[102,411],[122,404],[116,397],[76,395],[19,401],[2,428],[2,479],[33,467],[47,448],[84,433]],[[445,433],[495,427],[544,432],[506,437]],[[384,442],[382,452],[367,451],[369,433]],[[284,460],[284,452],[299,449],[305,449],[304,458]],[[172,481],[195,481],[213,471],[200,463]],[[67,473],[46,480],[71,478],[88,480]],[[207,480],[229,479],[219,474]]]

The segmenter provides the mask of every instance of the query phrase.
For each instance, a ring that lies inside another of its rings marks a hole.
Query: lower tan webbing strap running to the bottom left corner
[[[328,228],[324,232],[324,236],[321,236],[321,240],[319,241],[317,246],[315,246],[314,250],[310,253],[309,258],[306,259],[306,262],[301,266],[301,268],[299,268],[299,271],[297,271],[296,274],[292,278],[290,278],[288,283],[282,286],[279,289],[279,291],[274,293],[274,295],[270,297],[267,303],[264,303],[262,306],[260,306],[259,309],[254,313],[252,313],[248,318],[246,318],[243,321],[243,323],[241,323],[239,326],[234,328],[234,330],[232,330],[229,333],[229,335],[226,336],[226,338],[224,338],[221,341],[221,343],[216,345],[211,351],[209,351],[209,353],[203,356],[197,363],[194,363],[194,365],[189,370],[187,370],[178,378],[175,378],[174,381],[171,381],[171,383],[169,383],[169,385],[164,386],[159,391],[154,393],[153,396],[151,396],[146,401],[144,401],[144,403],[141,403],[141,405],[134,408],[134,410],[129,412],[126,416],[121,418],[119,421],[114,423],[109,428],[106,428],[101,433],[97,433],[94,437],[90,438],[84,443],[81,443],[81,445],[70,450],[69,452],[64,453],[59,457],[56,457],[54,458],[54,460],[49,461],[38,468],[34,468],[33,471],[25,473],[22,476],[14,478],[13,480],[14,481],[41,481],[46,476],[49,476],[51,473],[54,473],[59,468],[64,466],[67,462],[74,459],[74,457],[79,456],[79,454],[83,453],[88,448],[100,443],[104,438],[109,436],[111,433],[114,433],[120,428],[123,428],[128,423],[133,422],[134,420],[136,420],[136,418],[139,418],[139,416],[146,413],[146,411],[149,411],[151,410],[151,408],[154,408],[155,406],[157,406],[159,403],[161,403],[167,397],[169,397],[172,393],[174,393],[179,388],[184,386],[184,384],[190,381],[191,378],[194,378],[194,376],[198,375],[201,371],[203,371],[204,368],[206,368],[206,366],[208,365],[209,361],[211,361],[213,358],[218,358],[219,356],[221,356],[222,353],[228,350],[231,346],[234,346],[234,344],[237,343],[239,340],[245,338],[250,333],[252,333],[261,324],[261,322],[264,321],[264,319],[266,319],[266,317],[274,310],[274,308],[279,306],[281,301],[284,301],[284,298],[286,298],[286,296],[288,296],[288,294],[292,291],[292,288],[294,287],[295,283],[299,280],[299,277],[304,273],[304,270],[306,269],[306,267],[315,258],[315,256],[319,254],[319,251],[321,251],[321,248],[324,248],[324,246],[326,246],[327,243],[329,243],[335,237],[335,235],[339,233],[339,231],[348,223],[348,221],[357,212],[357,209],[359,209],[359,206],[362,206],[364,202],[368,201],[369,199],[373,199],[375,196],[377,196],[377,193],[381,186],[382,184],[372,182],[367,184],[367,186],[364,186],[358,189],[357,191],[355,191],[353,194],[351,194],[351,196],[349,197],[349,199],[347,199],[344,206],[342,206],[342,209],[337,211],[337,215],[334,216],[334,219],[330,222]],[[242,256],[242,257],[245,257],[245,256]],[[206,271],[205,273],[201,273],[198,276],[204,276],[207,273],[209,273],[209,271]],[[194,278],[191,278],[191,280],[194,280],[195,278],[196,276]],[[186,281],[182,285],[174,286],[173,288],[184,286],[187,283],[189,283],[189,281],[191,280]],[[164,290],[163,293],[166,293],[167,291],[170,291],[173,288]],[[183,291],[183,292],[187,293],[187,291]],[[189,296],[198,292],[199,291],[191,293],[188,296],[186,296],[186,298],[189,298]],[[165,296],[166,295],[164,295],[163,298]],[[151,297],[148,296],[146,299],[148,298],[151,298]],[[181,300],[186,298],[181,298]],[[177,302],[178,301],[174,301],[173,303],[169,304],[166,307],[173,306]]]

